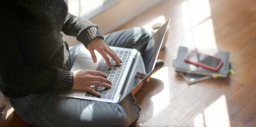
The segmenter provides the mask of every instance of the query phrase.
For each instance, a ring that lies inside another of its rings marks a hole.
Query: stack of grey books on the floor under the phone
[[[204,67],[185,62],[184,58],[190,50],[195,49],[180,46],[177,58],[172,61],[175,71],[179,72],[188,84],[193,84],[209,78],[227,78],[229,72],[231,72],[231,74],[235,74],[234,67],[229,63],[229,52],[214,49],[196,49],[198,52],[215,56],[223,60],[219,70],[212,71]]]

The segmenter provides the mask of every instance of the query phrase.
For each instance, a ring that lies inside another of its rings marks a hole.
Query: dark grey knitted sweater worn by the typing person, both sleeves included
[[[85,47],[98,27],[68,13],[65,0],[0,1],[0,89],[8,97],[71,89],[73,72],[66,67],[68,44],[75,36]]]

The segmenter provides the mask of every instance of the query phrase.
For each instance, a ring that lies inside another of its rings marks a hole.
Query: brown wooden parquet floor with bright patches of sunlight
[[[117,30],[171,19],[159,59],[164,67],[135,95],[140,118],[132,126],[256,126],[256,0],[164,0]],[[188,85],[174,71],[179,46],[230,52],[235,75]],[[30,126],[8,103],[0,126]]]

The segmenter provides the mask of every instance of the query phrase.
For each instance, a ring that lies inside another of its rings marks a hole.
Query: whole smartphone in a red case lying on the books
[[[188,63],[195,64],[212,71],[218,71],[223,63],[221,58],[210,56],[196,50],[190,50],[184,60]]]

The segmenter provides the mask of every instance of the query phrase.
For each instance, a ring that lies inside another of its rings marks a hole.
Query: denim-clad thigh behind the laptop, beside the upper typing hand
[[[116,31],[103,37],[109,46],[139,50],[148,41],[150,34],[144,28],[134,27]]]

